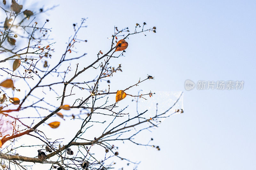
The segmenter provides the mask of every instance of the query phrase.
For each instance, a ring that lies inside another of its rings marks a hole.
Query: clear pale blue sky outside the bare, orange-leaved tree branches
[[[117,62],[122,64],[123,73],[111,81],[113,89],[122,89],[149,74],[155,80],[140,85],[140,89],[184,91],[184,114],[166,119],[140,138],[153,137],[160,152],[123,146],[134,159],[142,161],[139,169],[256,168],[256,1],[58,0],[46,4],[60,4],[44,15],[50,19],[56,41],[53,59],[59,59],[73,33],[73,23],[81,18],[88,17],[88,28],[80,32],[88,42],[78,49],[88,53],[88,58],[108,49],[107,38],[114,26],[128,26],[134,31],[136,23],[146,22],[148,27],[157,27],[156,34],[127,40],[125,57]],[[90,63],[88,60],[80,66]],[[127,79],[118,84],[118,78],[123,77]],[[186,91],[187,79],[245,83],[243,90]]]

